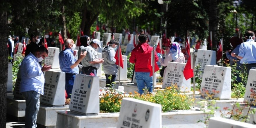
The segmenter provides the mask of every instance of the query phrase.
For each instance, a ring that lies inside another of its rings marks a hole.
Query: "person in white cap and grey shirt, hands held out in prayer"
[[[101,48],[100,41],[94,39],[90,45],[81,50],[82,52],[87,52],[86,57],[81,61],[83,66],[82,74],[97,76],[99,64],[104,62],[104,58],[98,59],[97,51],[99,47]]]

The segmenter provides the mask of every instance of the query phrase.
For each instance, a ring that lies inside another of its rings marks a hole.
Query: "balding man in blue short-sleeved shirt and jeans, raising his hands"
[[[60,68],[62,72],[65,72],[65,89],[67,92],[67,98],[71,97],[75,75],[78,74],[78,64],[83,60],[86,56],[86,51],[84,53],[81,52],[78,60],[75,58],[75,52],[72,51],[76,47],[74,41],[72,39],[66,39],[64,41],[65,49],[59,54],[59,62]]]

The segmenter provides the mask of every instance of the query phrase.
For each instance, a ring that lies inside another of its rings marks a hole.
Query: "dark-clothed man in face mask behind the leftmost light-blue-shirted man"
[[[25,56],[29,55],[29,53],[33,53],[35,49],[37,49],[39,46],[36,44],[38,42],[38,34],[33,33],[30,34],[30,43],[26,46]]]

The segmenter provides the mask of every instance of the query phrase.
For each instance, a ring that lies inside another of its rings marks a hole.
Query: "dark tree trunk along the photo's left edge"
[[[7,13],[0,14],[0,127],[6,127],[6,85],[8,77],[8,26],[7,26]]]

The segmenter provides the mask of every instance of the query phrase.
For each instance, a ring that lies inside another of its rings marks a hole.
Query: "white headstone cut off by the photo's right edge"
[[[247,79],[247,84],[246,84],[246,90],[245,90],[245,94],[244,94],[244,99],[243,102],[245,103],[251,103],[254,102],[256,100],[256,70],[255,69],[251,69],[248,75],[248,79]],[[253,105],[253,104],[252,104]]]

